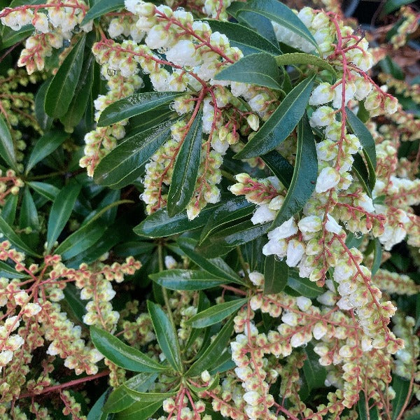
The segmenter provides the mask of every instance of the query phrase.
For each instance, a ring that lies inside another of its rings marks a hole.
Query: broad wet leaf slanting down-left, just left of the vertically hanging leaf
[[[173,121],[165,121],[125,139],[99,162],[94,181],[111,188],[132,183],[143,171],[142,165],[169,139],[172,125]]]

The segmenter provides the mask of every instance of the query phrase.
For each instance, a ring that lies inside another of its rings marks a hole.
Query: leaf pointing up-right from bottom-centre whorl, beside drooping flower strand
[[[218,332],[216,338],[211,342],[207,349],[202,353],[200,358],[196,360],[190,369],[186,373],[187,377],[196,377],[204,372],[204,370],[210,370],[214,365],[217,364],[218,358],[226,350],[230,336],[233,331],[233,316],[223,325],[223,328]],[[227,351],[226,351],[227,352]],[[218,357],[214,357],[217,354]]]

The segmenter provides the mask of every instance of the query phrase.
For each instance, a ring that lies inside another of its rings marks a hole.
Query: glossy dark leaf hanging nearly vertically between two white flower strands
[[[167,211],[170,217],[181,213],[193,197],[202,149],[202,111],[197,113],[186,134],[178,156],[167,198]]]

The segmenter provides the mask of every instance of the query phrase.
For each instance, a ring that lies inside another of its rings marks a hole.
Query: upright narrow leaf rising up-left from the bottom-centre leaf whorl
[[[150,300],[147,301],[147,309],[152,318],[153,328],[155,329],[160,349],[165,354],[169,365],[174,367],[177,372],[183,372],[178,335],[171,321],[169,321],[169,317],[160,305]]]

